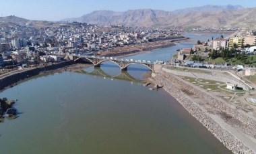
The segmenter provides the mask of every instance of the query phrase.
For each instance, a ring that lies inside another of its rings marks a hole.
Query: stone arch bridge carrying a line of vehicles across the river
[[[94,56],[69,56],[69,59],[77,61],[77,60],[87,60],[89,62],[91,62],[94,67],[100,67],[100,64],[102,64],[102,62],[114,62],[115,64],[117,64],[121,70],[127,70],[127,67],[132,65],[132,64],[141,64],[143,66],[146,66],[147,68],[149,68],[152,72],[154,71],[154,64],[152,62],[148,62],[146,60],[140,60],[140,62],[136,62],[133,60],[123,60],[123,59],[117,59],[117,58],[104,58],[104,57],[94,57]]]

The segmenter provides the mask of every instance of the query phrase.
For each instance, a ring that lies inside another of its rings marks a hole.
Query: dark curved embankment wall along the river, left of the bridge
[[[40,74],[41,72],[47,72],[51,70],[56,70],[58,68],[63,68],[65,66],[69,66],[71,64],[74,64],[73,61],[66,61],[66,62],[61,62],[58,64],[53,64],[51,66],[45,66],[41,68],[34,68],[32,70],[26,70],[23,72],[18,72],[15,74],[11,74],[9,76],[5,76],[0,79],[0,90],[3,90],[4,88],[11,86],[21,80],[24,80],[26,78],[30,78],[31,76],[36,76]]]

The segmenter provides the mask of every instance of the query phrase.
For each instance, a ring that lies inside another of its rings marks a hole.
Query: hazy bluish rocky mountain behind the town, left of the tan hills
[[[78,18],[63,19],[63,21],[79,21],[99,25],[143,25],[153,26],[162,21],[166,21],[171,12],[152,10],[152,9],[137,9],[125,12],[115,11],[93,11],[87,15]]]

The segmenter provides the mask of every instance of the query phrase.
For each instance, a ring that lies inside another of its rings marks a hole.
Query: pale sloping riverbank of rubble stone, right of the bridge
[[[255,119],[162,69],[153,79],[233,153],[256,152]]]

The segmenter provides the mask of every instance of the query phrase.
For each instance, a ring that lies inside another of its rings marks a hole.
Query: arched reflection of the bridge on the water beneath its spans
[[[110,75],[110,74],[106,73],[106,72],[109,72],[109,70],[112,69],[112,68],[116,72],[119,67],[118,66],[113,66],[113,65],[110,65],[110,64],[103,64],[102,68],[96,67],[93,70],[89,70],[89,71],[82,70],[79,73],[88,74],[88,75],[92,75],[92,76],[101,76],[103,78],[110,78],[110,79],[115,79],[115,80],[126,80],[126,81],[131,81],[131,82],[141,82],[142,83],[142,82],[144,82],[144,80],[142,80],[142,79],[140,80],[140,79],[135,78],[134,76],[129,74],[129,71],[131,71],[131,72],[142,72],[142,73],[143,72],[145,73],[145,72],[149,71],[148,69],[145,69],[145,68],[129,68],[128,71],[119,70],[119,74],[117,74],[117,75]]]

